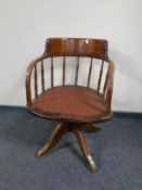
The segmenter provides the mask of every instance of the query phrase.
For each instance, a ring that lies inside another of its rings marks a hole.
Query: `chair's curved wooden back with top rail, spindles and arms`
[[[80,58],[90,59],[90,65],[87,77],[87,88],[90,88],[90,80],[93,77],[92,67],[94,60],[101,60],[100,73],[98,85],[95,91],[103,97],[104,102],[107,105],[107,111],[111,112],[111,102],[112,102],[112,92],[113,92],[113,77],[114,77],[114,63],[107,55],[107,41],[103,39],[85,39],[85,38],[50,38],[46,42],[46,50],[43,55],[33,61],[26,73],[26,98],[27,105],[31,106],[33,97],[31,97],[31,73],[34,72],[34,90],[35,98],[37,99],[39,93],[38,78],[41,77],[41,92],[44,92],[46,89],[46,79],[44,79],[44,63],[46,59],[51,61],[51,88],[55,87],[54,85],[54,58],[63,58],[63,67],[62,67],[62,84],[61,86],[66,86],[66,58],[76,56],[76,66],[75,66],[75,86],[78,86],[78,75],[80,66]],[[105,81],[103,84],[103,90],[101,92],[102,78],[104,74],[104,65],[107,64],[107,71],[105,75]],[[40,71],[37,69],[37,66],[40,66]],[[40,75],[39,73],[40,72]]]

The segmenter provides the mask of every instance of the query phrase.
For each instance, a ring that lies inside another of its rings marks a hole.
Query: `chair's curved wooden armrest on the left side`
[[[28,65],[27,72],[26,72],[26,100],[27,100],[27,106],[31,106],[31,89],[30,89],[30,79],[31,79],[31,72],[36,64],[38,64],[43,59],[43,55],[31,61]]]

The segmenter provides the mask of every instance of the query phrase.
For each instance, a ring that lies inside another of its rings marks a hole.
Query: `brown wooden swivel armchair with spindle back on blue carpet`
[[[107,49],[107,41],[103,39],[49,38],[43,54],[29,64],[26,73],[26,107],[38,116],[57,122],[49,140],[37,152],[37,156],[48,153],[65,132],[72,131],[90,170],[95,172],[96,166],[82,129],[96,131],[101,129],[95,125],[96,122],[112,117],[114,63],[108,58]],[[61,85],[55,85],[54,80],[57,58],[62,60],[62,78],[59,79]],[[67,64],[72,58],[75,72],[72,75],[73,84],[67,84]],[[89,61],[88,69],[85,71],[87,77],[86,84],[79,85],[83,58]],[[94,79],[93,67],[98,61],[99,72]],[[49,86],[46,85],[47,65],[50,72]],[[95,87],[91,87],[91,84],[95,84]]]

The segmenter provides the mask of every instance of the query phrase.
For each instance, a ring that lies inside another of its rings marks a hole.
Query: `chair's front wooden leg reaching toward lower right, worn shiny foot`
[[[85,155],[85,157],[87,160],[87,164],[88,164],[89,169],[91,170],[91,173],[95,173],[96,166],[95,166],[95,163],[94,163],[94,161],[91,156],[89,147],[87,144],[87,140],[85,138],[85,135],[83,135],[81,128],[79,126],[75,126],[73,128],[73,132],[76,136],[78,144],[81,149],[81,152],[82,152],[82,154]]]

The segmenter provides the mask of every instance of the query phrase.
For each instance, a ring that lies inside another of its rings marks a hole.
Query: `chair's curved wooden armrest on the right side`
[[[106,103],[107,112],[111,113],[115,64],[109,58],[107,59],[107,62],[109,64],[109,67],[108,67],[108,80],[106,86],[105,103]]]

